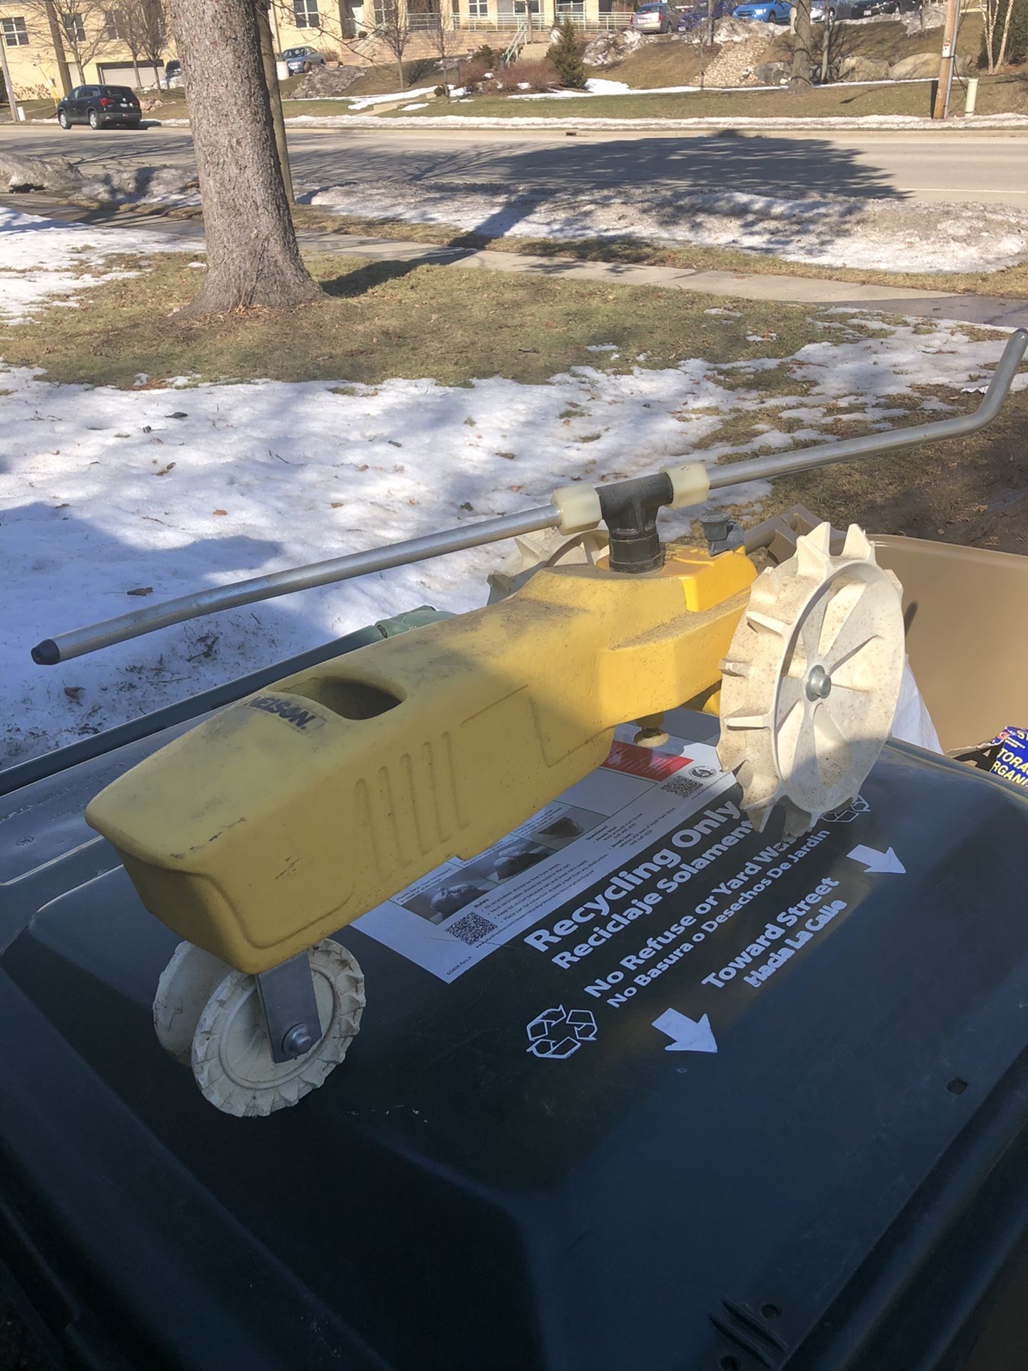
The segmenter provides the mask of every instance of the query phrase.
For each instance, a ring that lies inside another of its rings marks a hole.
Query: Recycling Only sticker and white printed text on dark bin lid
[[[798,838],[774,823],[754,829],[713,747],[618,736],[603,766],[502,843],[358,927],[440,980],[480,968],[484,1001],[482,962],[502,953],[502,998],[517,986],[511,1008],[524,1006],[506,1041],[526,1069],[602,1069],[617,1020],[654,1056],[717,1058],[747,1001],[906,875],[866,795]]]

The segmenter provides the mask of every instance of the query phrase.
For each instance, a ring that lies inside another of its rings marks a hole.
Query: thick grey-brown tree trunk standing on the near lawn
[[[200,180],[207,271],[193,317],[315,299],[276,152],[254,0],[171,0]]]

